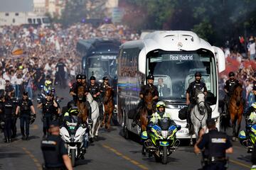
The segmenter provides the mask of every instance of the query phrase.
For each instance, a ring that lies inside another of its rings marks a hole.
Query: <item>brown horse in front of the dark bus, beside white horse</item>
[[[113,89],[111,87],[107,87],[104,94],[104,98],[103,98],[103,105],[104,105],[105,112],[104,112],[102,124],[100,125],[101,127],[105,125],[105,121],[108,116],[107,124],[105,125],[105,128],[107,130],[110,129],[110,120],[112,118],[112,114],[114,111],[113,94],[114,94]]]

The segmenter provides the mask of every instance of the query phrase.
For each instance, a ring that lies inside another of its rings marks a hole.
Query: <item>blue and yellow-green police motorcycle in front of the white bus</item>
[[[156,162],[167,164],[167,157],[180,145],[176,139],[176,132],[181,130],[180,125],[171,125],[170,118],[161,118],[157,125],[149,124],[149,139],[142,133],[142,140],[149,155],[153,154]]]

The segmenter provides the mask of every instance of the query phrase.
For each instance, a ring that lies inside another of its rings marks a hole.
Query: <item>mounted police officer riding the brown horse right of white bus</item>
[[[232,96],[234,90],[235,90],[235,86],[239,85],[239,81],[237,79],[235,79],[235,73],[234,72],[230,72],[228,74],[228,77],[230,77],[230,79],[228,79],[225,82],[225,86],[224,86],[224,91],[225,91],[225,98],[224,98],[224,111],[223,111],[223,115],[227,115],[228,114],[228,103],[230,101],[230,97]]]

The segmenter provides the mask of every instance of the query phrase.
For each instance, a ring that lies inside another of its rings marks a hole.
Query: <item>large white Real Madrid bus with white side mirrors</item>
[[[186,106],[186,89],[194,81],[195,72],[201,72],[210,96],[212,118],[219,128],[218,72],[224,69],[223,51],[191,31],[155,31],[142,40],[122,44],[117,62],[117,108],[124,137],[129,137],[129,132],[139,135],[141,131],[139,126],[132,128],[129,115],[137,110],[139,91],[148,74],[154,74],[155,85],[159,78],[164,80],[167,89],[159,99],[165,101],[166,112],[181,125],[177,137],[186,139],[189,137],[186,120],[178,118],[178,111]]]

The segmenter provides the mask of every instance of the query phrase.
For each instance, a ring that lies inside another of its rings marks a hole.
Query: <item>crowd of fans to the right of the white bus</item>
[[[235,72],[235,78],[242,84],[246,107],[252,104],[252,87],[256,84],[256,62],[255,62],[255,40],[250,36],[247,40],[240,38],[240,41],[233,47],[225,47],[226,69],[220,73],[220,91],[223,90],[225,81],[228,80],[228,73]],[[241,47],[240,49],[238,47]],[[244,50],[244,48],[247,48]],[[247,52],[247,53],[246,53]],[[220,98],[224,97],[224,92],[220,93]]]

